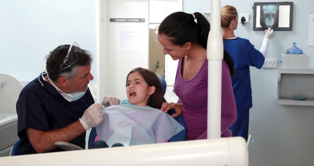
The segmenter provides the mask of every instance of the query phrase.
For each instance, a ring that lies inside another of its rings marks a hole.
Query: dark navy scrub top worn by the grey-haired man
[[[18,136],[21,140],[19,151],[21,154],[37,153],[31,146],[25,128],[49,131],[63,128],[83,116],[84,111],[94,103],[94,99],[87,89],[80,99],[68,102],[47,81],[40,77],[27,84],[19,95],[16,103],[18,114]],[[85,134],[70,141],[81,148],[85,148]],[[64,151],[61,148],[49,152]]]

